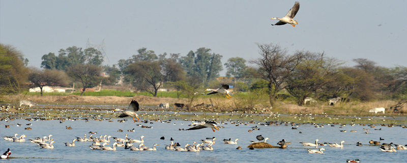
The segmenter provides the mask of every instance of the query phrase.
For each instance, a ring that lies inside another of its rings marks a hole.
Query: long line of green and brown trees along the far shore
[[[192,103],[199,95],[197,92],[216,81],[225,66],[226,77],[232,78],[228,84],[235,86],[235,92],[266,89],[271,105],[281,94],[292,96],[299,105],[306,97],[405,99],[406,67],[386,68],[362,58],[353,60],[356,66],[346,67],[343,62],[326,57],[324,52],[288,53],[286,48],[272,43],[257,46],[259,57],[248,62],[235,57],[222,65],[222,55],[205,47],[191,50],[186,56],[165,52],[156,55],[143,47],[112,66],[102,65],[103,56],[97,49],[72,46],[59,50],[57,56],[51,52],[42,56],[42,69],[38,69],[28,68],[28,60],[15,47],[0,44],[0,91],[18,93],[29,87],[72,86],[76,82],[82,95],[86,88],[100,83],[123,83],[156,96],[166,85],[186,94]]]

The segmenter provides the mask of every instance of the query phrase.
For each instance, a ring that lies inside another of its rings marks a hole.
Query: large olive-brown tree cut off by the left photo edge
[[[20,51],[0,44],[0,94],[15,93],[25,87],[28,68]]]

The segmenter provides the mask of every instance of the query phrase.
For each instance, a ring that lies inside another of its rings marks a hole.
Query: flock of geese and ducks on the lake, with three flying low
[[[215,94],[215,93],[221,93],[221,94],[225,94],[227,98],[231,98],[231,95],[233,95],[230,91],[228,91],[229,86],[228,85],[224,85],[222,84],[222,87],[216,90],[213,89],[207,89],[207,91],[212,91],[211,93],[208,93],[207,95],[210,94]],[[116,109],[115,111],[120,111],[121,115],[119,115],[119,118],[124,118],[124,117],[132,117],[134,123],[136,122],[136,120],[134,118],[136,118],[137,120],[139,120],[139,116],[137,115],[137,111],[139,110],[139,103],[136,100],[132,100],[129,104],[129,106],[126,108],[126,110],[119,110]],[[202,121],[202,122],[194,122],[192,123],[190,126],[190,128],[186,129],[186,130],[196,130],[196,129],[202,129],[202,128],[211,128],[212,131],[215,132],[216,130],[219,130],[219,128],[221,128],[221,126],[218,126],[219,123],[215,122],[215,121]],[[262,125],[278,125],[278,123],[276,122],[270,122],[270,123],[266,123],[266,124],[262,124]],[[29,124],[27,124],[29,125]],[[31,124],[30,124],[31,125]],[[280,123],[281,125],[281,123]],[[285,124],[287,125],[287,124]],[[291,123],[292,126],[296,126],[298,127],[298,124],[293,124]],[[329,124],[328,124],[329,125]],[[22,126],[20,124],[17,124],[17,126]],[[333,126],[333,125],[332,125]],[[9,125],[6,125],[6,128],[10,127]],[[67,127],[67,126],[66,126]],[[296,127],[292,127],[292,129],[297,129]],[[315,127],[320,127],[319,125],[315,124]],[[324,127],[322,125],[322,127]],[[372,126],[371,126],[372,127]],[[258,128],[257,126],[252,127],[253,130],[259,130],[260,128]],[[67,129],[70,129],[67,127]],[[249,130],[253,131],[253,130]],[[365,130],[365,129],[364,129]],[[368,129],[366,129],[368,130]],[[377,129],[380,130],[380,129]],[[119,132],[121,132],[120,130],[118,130]],[[123,131],[123,130],[122,130]],[[127,130],[129,132],[134,132],[134,128],[132,130]],[[343,130],[340,130],[341,132],[343,132]],[[351,131],[352,132],[352,131]],[[137,139],[130,139],[128,138],[128,134],[125,135],[125,138],[118,138],[118,137],[111,137],[110,135],[100,135],[99,138],[95,138],[93,137],[92,134],[97,134],[97,132],[94,131],[90,131],[89,132],[91,135],[89,136],[89,138],[87,138],[87,135],[84,134],[84,137],[76,137],[74,139],[72,139],[72,142],[66,142],[64,143],[65,146],[67,147],[74,147],[75,146],[75,141],[76,142],[92,142],[91,145],[89,145],[89,148],[92,150],[116,150],[117,147],[124,147],[125,149],[129,149],[132,151],[156,151],[157,148],[156,146],[158,146],[158,144],[154,144],[153,148],[149,148],[144,146],[144,136],[141,135],[140,140]],[[302,132],[300,132],[302,133]],[[368,133],[368,131],[366,131],[366,133]],[[13,136],[4,136],[4,140],[6,141],[12,141],[12,142],[24,142],[26,138],[26,136],[24,134],[20,135],[19,137],[17,137],[17,133],[15,133]],[[53,143],[55,143],[55,141],[53,139],[51,139],[53,135],[49,134],[48,136],[43,136],[43,137],[37,137],[34,139],[29,139],[30,142],[37,144],[40,148],[45,148],[45,149],[52,149],[54,148]],[[112,138],[112,146],[106,146],[108,145],[111,140],[110,138]],[[161,139],[165,139],[164,137],[161,137]],[[262,135],[257,135],[256,136],[257,141],[250,141],[251,143],[266,143],[266,141],[269,138],[264,138]],[[199,152],[200,150],[214,150],[213,145],[215,145],[215,140],[216,138],[206,138],[206,139],[202,139],[200,140],[200,143],[196,143],[193,142],[191,143],[192,145],[186,143],[185,146],[181,146],[180,143],[173,143],[173,139],[171,138],[170,141],[171,143],[169,145],[166,145],[164,147],[164,149],[166,150],[173,150],[173,151],[193,151],[193,152]],[[384,140],[382,138],[380,138],[380,140]],[[232,141],[231,139],[224,139],[223,143],[224,144],[238,144],[239,139],[235,139],[234,141]],[[306,142],[300,142],[303,146],[313,146],[313,147],[318,147],[318,146],[324,146],[323,148],[319,148],[319,149],[306,149],[308,153],[324,153],[325,146],[329,146],[329,147],[343,147],[345,143],[345,141],[341,141],[339,144],[337,143],[318,143],[318,139],[315,140],[315,143],[306,143]],[[134,143],[138,143],[138,145],[133,145]],[[207,146],[205,146],[205,144],[208,144]],[[286,144],[290,144],[290,142],[286,142],[284,139],[280,142],[277,143],[277,145],[279,145],[280,147],[286,148]],[[381,144],[381,142],[379,141],[369,141],[369,144],[372,146],[380,146],[379,149],[383,152],[396,152],[397,150],[405,150],[407,148],[405,148],[403,145],[396,145],[393,143],[390,144],[386,144],[383,143]],[[362,143],[358,142],[356,144],[357,146],[362,146]],[[394,147],[393,147],[394,146]],[[406,145],[407,146],[407,145]],[[236,149],[242,149],[240,146]],[[253,149],[253,148],[250,148]],[[396,150],[397,149],[397,150]],[[11,154],[10,149],[8,149],[2,156],[1,158],[8,158],[9,155]],[[347,159],[346,162],[359,162],[359,159],[355,159],[355,160],[351,160],[351,159]]]

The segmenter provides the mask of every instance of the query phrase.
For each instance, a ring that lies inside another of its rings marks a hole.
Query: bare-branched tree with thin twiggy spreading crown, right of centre
[[[260,78],[269,82],[270,104],[273,106],[277,93],[283,87],[281,85],[290,77],[300,64],[303,57],[302,52],[287,55],[287,51],[279,45],[257,44],[261,57],[251,61],[258,66]]]

